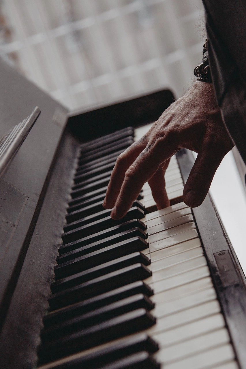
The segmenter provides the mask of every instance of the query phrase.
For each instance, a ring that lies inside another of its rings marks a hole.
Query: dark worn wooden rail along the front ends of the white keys
[[[185,149],[181,149],[176,155],[185,183],[195,159],[192,152]],[[218,294],[218,299],[232,338],[236,358],[238,359],[240,368],[245,369],[245,275],[209,194],[200,206],[192,209],[192,212],[205,250],[205,256]],[[223,251],[226,251],[227,259],[219,265],[218,254],[223,254]],[[225,283],[228,280],[229,283]]]

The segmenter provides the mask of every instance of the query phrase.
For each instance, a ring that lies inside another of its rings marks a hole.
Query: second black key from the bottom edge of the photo
[[[52,369],[92,369],[100,365],[108,365],[110,362],[136,354],[137,352],[147,351],[152,354],[158,350],[158,344],[145,333],[137,333],[131,337],[122,338],[117,343],[113,343],[106,348],[90,352],[70,359],[65,363],[58,363]]]

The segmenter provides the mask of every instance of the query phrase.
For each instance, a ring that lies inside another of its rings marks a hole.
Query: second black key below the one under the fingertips
[[[74,249],[73,251],[64,252],[63,254],[57,256],[57,264],[64,263],[65,261],[72,260],[74,258],[78,258],[79,256],[89,254],[90,252],[94,252],[105,248],[107,246],[115,245],[119,242],[126,241],[127,239],[133,237],[141,237],[143,239],[147,238],[147,235],[144,231],[139,228],[133,228],[129,231],[124,231],[119,234],[113,235],[111,237],[104,238],[103,240],[89,243],[88,245],[82,246]],[[78,241],[79,245],[79,241]],[[147,247],[147,245],[146,245]]]

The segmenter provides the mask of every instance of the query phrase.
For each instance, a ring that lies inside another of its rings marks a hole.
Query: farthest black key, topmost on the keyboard
[[[88,152],[90,150],[102,147],[104,145],[109,144],[110,142],[115,142],[119,139],[126,138],[126,137],[133,137],[134,130],[131,127],[124,128],[123,130],[117,131],[113,134],[109,134],[107,136],[102,136],[98,139],[95,139],[90,142],[86,142],[80,146],[81,152]]]

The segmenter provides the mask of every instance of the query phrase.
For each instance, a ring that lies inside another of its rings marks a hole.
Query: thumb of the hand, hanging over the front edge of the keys
[[[225,154],[218,155],[215,151],[202,151],[189,173],[184,186],[183,200],[190,207],[197,207],[204,201],[213,176]]]

